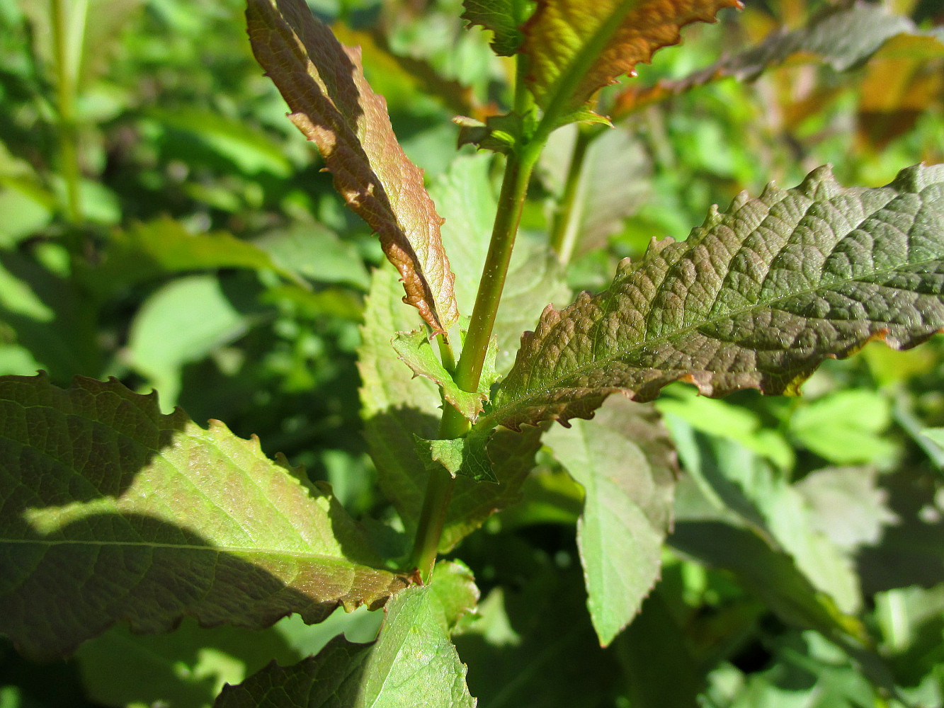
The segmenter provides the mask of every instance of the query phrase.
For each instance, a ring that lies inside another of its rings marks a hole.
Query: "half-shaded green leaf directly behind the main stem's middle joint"
[[[397,330],[419,324],[415,312],[399,302],[398,288],[395,271],[374,271],[363,315],[358,370],[364,434],[377,466],[380,489],[396,507],[407,531],[412,532],[429,475],[415,447],[414,435],[435,438],[442,411],[439,392],[430,379],[390,376],[392,371],[407,371],[397,360],[390,338]],[[495,461],[492,471],[498,483],[481,484],[465,477],[456,480],[440,542],[442,551],[454,547],[491,514],[517,500],[534,464],[534,454],[541,447],[541,432],[538,428],[528,428],[524,434],[499,430],[491,436],[487,451]]]

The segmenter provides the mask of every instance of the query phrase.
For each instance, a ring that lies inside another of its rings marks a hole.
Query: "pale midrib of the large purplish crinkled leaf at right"
[[[941,258],[942,258],[942,257],[941,257],[940,255],[938,255],[938,256],[936,256],[936,257],[929,258],[929,259],[926,259],[926,260],[923,260],[923,261],[908,261],[907,263],[898,264],[898,265],[896,265],[896,266],[889,267],[889,268],[886,268],[886,269],[883,269],[883,270],[872,271],[872,272],[870,272],[870,273],[868,273],[868,274],[865,274],[865,275],[867,275],[869,278],[874,278],[874,277],[877,277],[877,276],[882,276],[882,275],[886,275],[886,274],[890,274],[890,273],[897,273],[897,272],[899,272],[900,270],[902,270],[902,268],[905,267],[905,266],[907,266],[907,267],[917,267],[917,266],[925,265],[925,264],[927,264],[927,263],[933,263],[933,262],[940,261]],[[639,271],[635,271],[635,272],[639,272]],[[575,377],[575,376],[578,376],[578,375],[580,375],[580,374],[582,374],[582,373],[584,373],[584,372],[592,371],[592,370],[594,370],[594,369],[600,368],[601,366],[603,366],[603,365],[605,365],[605,364],[608,364],[608,363],[610,363],[610,362],[614,362],[614,361],[616,361],[616,360],[620,360],[620,359],[622,359],[623,357],[625,357],[626,355],[628,355],[629,353],[631,353],[632,351],[635,351],[635,350],[637,350],[637,349],[645,348],[645,347],[647,347],[647,346],[657,346],[657,345],[665,344],[667,341],[669,341],[669,340],[671,340],[671,339],[674,339],[674,338],[676,338],[676,337],[679,337],[679,336],[681,336],[681,335],[683,335],[683,334],[686,334],[686,333],[688,333],[688,332],[694,331],[694,330],[696,330],[696,329],[702,329],[702,328],[704,328],[704,327],[707,327],[707,326],[710,326],[710,325],[714,325],[714,324],[716,324],[716,323],[718,323],[718,322],[723,322],[723,321],[725,321],[725,320],[730,320],[730,319],[732,319],[733,317],[737,317],[737,316],[739,316],[739,315],[741,315],[741,314],[744,314],[744,313],[746,313],[746,312],[752,312],[752,311],[760,310],[760,309],[773,310],[773,309],[774,309],[774,306],[775,306],[777,303],[783,302],[784,300],[787,300],[787,299],[789,299],[789,298],[791,298],[791,297],[799,297],[799,296],[801,296],[801,295],[809,295],[809,294],[811,294],[811,293],[816,293],[816,292],[827,292],[827,291],[829,291],[829,290],[834,289],[836,286],[842,285],[842,284],[845,284],[845,283],[863,282],[861,278],[863,278],[863,274],[860,274],[860,275],[859,275],[858,277],[856,277],[856,278],[842,278],[842,279],[836,279],[836,280],[833,280],[833,281],[829,282],[828,284],[822,284],[822,283],[820,283],[817,287],[806,288],[806,289],[804,289],[804,290],[801,290],[801,291],[798,291],[798,292],[795,292],[795,293],[789,293],[789,294],[787,294],[787,295],[783,295],[782,297],[777,297],[777,298],[775,298],[775,299],[773,299],[773,300],[768,300],[767,302],[757,303],[757,304],[752,305],[752,306],[750,306],[750,307],[741,308],[740,310],[731,311],[731,312],[725,312],[724,314],[718,315],[718,316],[716,316],[716,317],[714,317],[714,318],[701,320],[700,322],[698,322],[698,323],[696,323],[696,324],[690,325],[690,326],[685,327],[685,328],[682,328],[682,329],[676,329],[676,330],[674,330],[673,332],[671,332],[671,333],[669,333],[669,334],[662,335],[662,336],[659,336],[659,337],[655,337],[655,338],[653,338],[653,339],[647,339],[647,340],[645,340],[645,341],[643,341],[643,342],[636,343],[635,345],[633,345],[633,346],[631,346],[631,347],[628,347],[628,348],[625,348],[625,349],[615,347],[615,352],[614,352],[613,355],[608,356],[608,357],[601,357],[601,358],[598,358],[598,359],[594,359],[594,360],[592,360],[591,362],[589,362],[589,363],[587,363],[587,364],[584,364],[584,365],[582,365],[582,366],[577,366],[576,368],[571,369],[571,370],[570,370],[569,372],[567,372],[565,375],[562,375],[562,376],[559,376],[559,377],[557,377],[557,378],[555,378],[555,379],[552,379],[551,381],[548,382],[547,385],[541,386],[541,387],[539,387],[539,388],[537,388],[537,389],[535,389],[535,390],[533,390],[533,391],[528,391],[524,396],[521,396],[521,397],[515,399],[514,402],[509,403],[508,405],[505,405],[505,406],[503,406],[502,408],[497,409],[497,410],[494,410],[494,411],[492,411],[491,413],[488,413],[487,415],[481,417],[481,418],[480,418],[480,425],[486,425],[486,424],[487,424],[487,425],[490,426],[490,427],[494,427],[495,425],[500,424],[500,420],[501,420],[501,419],[506,419],[507,417],[509,417],[506,412],[508,412],[508,413],[514,412],[514,410],[516,410],[516,409],[522,407],[522,404],[523,404],[525,401],[531,400],[531,399],[533,399],[533,398],[535,398],[535,397],[537,397],[537,396],[540,396],[541,394],[547,394],[548,392],[550,392],[550,391],[552,391],[552,390],[558,388],[558,382],[559,382],[559,381],[562,381],[563,379],[570,379],[570,378]],[[614,287],[614,285],[611,285],[611,288],[613,288],[613,287]],[[891,286],[886,286],[886,287],[891,287]],[[909,292],[910,292],[910,291],[909,291]],[[601,295],[602,295],[602,294],[601,294]],[[650,304],[651,304],[651,301],[650,301]],[[805,319],[808,319],[808,320],[809,320],[809,319],[825,319],[825,318],[822,318],[822,317],[819,317],[819,318],[806,317]],[[545,338],[545,342],[547,342],[547,341],[548,341],[548,338]],[[719,341],[723,341],[723,340],[719,340]],[[729,343],[729,344],[730,344],[730,343]],[[542,343],[542,349],[543,349],[543,346],[544,346],[544,345],[543,345],[543,343]],[[535,355],[534,355],[534,359],[537,359],[538,356],[539,356],[539,354],[535,354]],[[615,386],[615,388],[622,388],[622,387],[620,387],[620,386]],[[499,390],[500,390],[500,389],[499,389]],[[478,427],[478,426],[477,426],[477,427]]]

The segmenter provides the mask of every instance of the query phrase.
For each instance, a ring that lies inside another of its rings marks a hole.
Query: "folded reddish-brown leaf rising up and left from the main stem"
[[[387,105],[363,76],[361,52],[338,42],[302,0],[249,0],[252,49],[318,145],[335,189],[377,231],[407,295],[435,332],[459,317],[442,219],[423,173],[396,142]]]

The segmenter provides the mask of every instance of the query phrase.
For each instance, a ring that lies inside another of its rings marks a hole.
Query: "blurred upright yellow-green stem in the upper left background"
[[[84,35],[84,24],[70,33],[66,12],[67,0],[50,0],[49,14],[52,25],[53,53],[56,72],[56,98],[59,113],[59,158],[62,161],[62,180],[65,183],[65,217],[73,227],[82,221],[82,202],[79,194],[81,172],[78,166],[76,143],[76,62],[81,56],[81,44],[76,52],[75,32]],[[80,8],[84,10],[84,6]],[[77,13],[76,13],[77,14]],[[80,18],[81,19],[81,18]],[[70,36],[70,35],[73,36]],[[72,40],[72,41],[70,41]],[[76,56],[77,55],[77,56]],[[70,244],[76,254],[77,244]]]

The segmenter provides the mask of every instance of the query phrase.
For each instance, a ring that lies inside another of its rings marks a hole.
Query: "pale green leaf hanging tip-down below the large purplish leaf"
[[[577,522],[587,605],[612,642],[659,579],[678,466],[650,405],[611,398],[593,423],[550,430],[545,443],[586,492]]]

